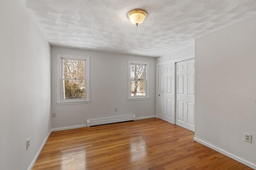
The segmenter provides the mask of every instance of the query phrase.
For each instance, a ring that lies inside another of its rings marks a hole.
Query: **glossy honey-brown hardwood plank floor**
[[[52,132],[33,170],[252,170],[161,119]]]

